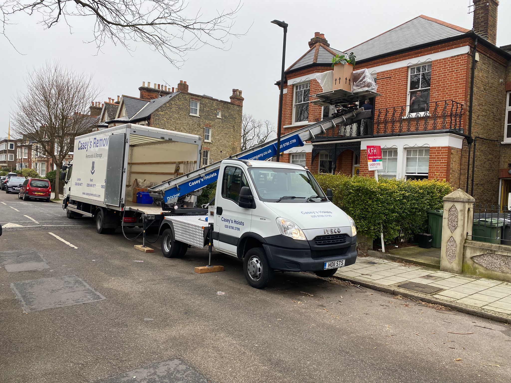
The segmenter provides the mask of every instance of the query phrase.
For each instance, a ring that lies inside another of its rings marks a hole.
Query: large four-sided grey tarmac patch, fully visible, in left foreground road
[[[11,289],[25,313],[105,299],[76,275],[13,282]]]

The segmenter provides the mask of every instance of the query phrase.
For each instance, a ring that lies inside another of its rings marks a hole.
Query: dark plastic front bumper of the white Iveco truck
[[[350,243],[342,247],[283,248],[273,244],[263,244],[270,267],[282,271],[319,271],[324,269],[324,262],[344,259],[344,266],[353,265],[357,259],[357,239],[350,238]],[[336,254],[337,253],[337,254]]]

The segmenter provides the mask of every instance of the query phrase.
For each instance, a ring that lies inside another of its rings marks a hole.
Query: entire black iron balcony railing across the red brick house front
[[[352,125],[339,124],[336,129],[317,135],[315,141],[441,129],[463,131],[462,104],[453,100],[435,101],[425,109],[412,113],[409,105],[376,109],[373,118],[365,118]]]

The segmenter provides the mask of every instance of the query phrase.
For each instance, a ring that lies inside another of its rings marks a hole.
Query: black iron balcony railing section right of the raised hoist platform
[[[463,105],[453,101],[424,104],[423,111],[410,112],[410,105],[375,110],[374,134],[451,129],[463,131]]]

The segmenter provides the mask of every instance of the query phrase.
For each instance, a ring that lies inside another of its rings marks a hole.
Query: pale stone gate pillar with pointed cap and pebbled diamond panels
[[[461,274],[463,244],[472,235],[475,199],[461,189],[444,197],[440,270]],[[467,234],[468,233],[468,234]]]

